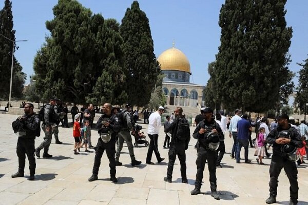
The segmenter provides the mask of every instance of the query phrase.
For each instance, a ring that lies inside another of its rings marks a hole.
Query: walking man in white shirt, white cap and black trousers
[[[148,127],[148,136],[150,138],[150,145],[148,149],[148,153],[146,155],[146,163],[148,165],[154,165],[153,162],[151,162],[153,151],[156,155],[158,163],[163,161],[165,158],[161,158],[160,153],[158,151],[158,133],[159,129],[162,125],[162,117],[161,115],[164,112],[164,107],[160,106],[158,108],[158,111],[152,113],[149,117],[149,127]]]

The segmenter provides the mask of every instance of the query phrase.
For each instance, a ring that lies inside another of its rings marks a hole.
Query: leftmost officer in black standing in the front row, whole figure
[[[40,118],[33,113],[33,104],[27,103],[24,107],[25,115],[18,117],[14,124],[20,124],[21,129],[18,132],[16,153],[18,156],[18,172],[12,175],[12,178],[23,177],[25,170],[25,160],[27,154],[29,160],[30,177],[28,180],[34,180],[35,157],[34,157],[34,139],[37,130],[40,131]],[[14,127],[14,126],[13,126]],[[15,130],[14,130],[15,131]],[[39,136],[39,135],[37,135]]]

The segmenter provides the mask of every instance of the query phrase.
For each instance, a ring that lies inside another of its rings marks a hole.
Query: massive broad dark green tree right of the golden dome
[[[288,83],[286,0],[226,0],[219,16],[221,45],[216,55],[215,86],[224,106],[263,112],[280,100]]]

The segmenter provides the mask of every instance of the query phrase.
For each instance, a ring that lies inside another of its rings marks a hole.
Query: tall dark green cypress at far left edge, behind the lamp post
[[[6,39],[15,41],[15,30],[13,30],[12,3],[9,0],[4,2],[4,7],[0,11],[0,98],[9,98],[10,75],[12,63],[12,50],[18,49],[14,44]],[[13,59],[12,97],[21,98],[22,90],[27,75],[22,71],[22,66],[17,59]]]

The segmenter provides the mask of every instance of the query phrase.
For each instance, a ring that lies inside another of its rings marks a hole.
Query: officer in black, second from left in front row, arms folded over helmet
[[[109,159],[110,180],[112,182],[118,182],[118,179],[115,178],[114,154],[115,138],[121,129],[121,125],[119,124],[117,116],[111,114],[111,109],[111,104],[105,103],[103,106],[103,114],[97,122],[97,129],[101,137],[99,138],[96,147],[92,176],[88,179],[89,181],[98,179],[101,158],[106,150],[107,157]]]

